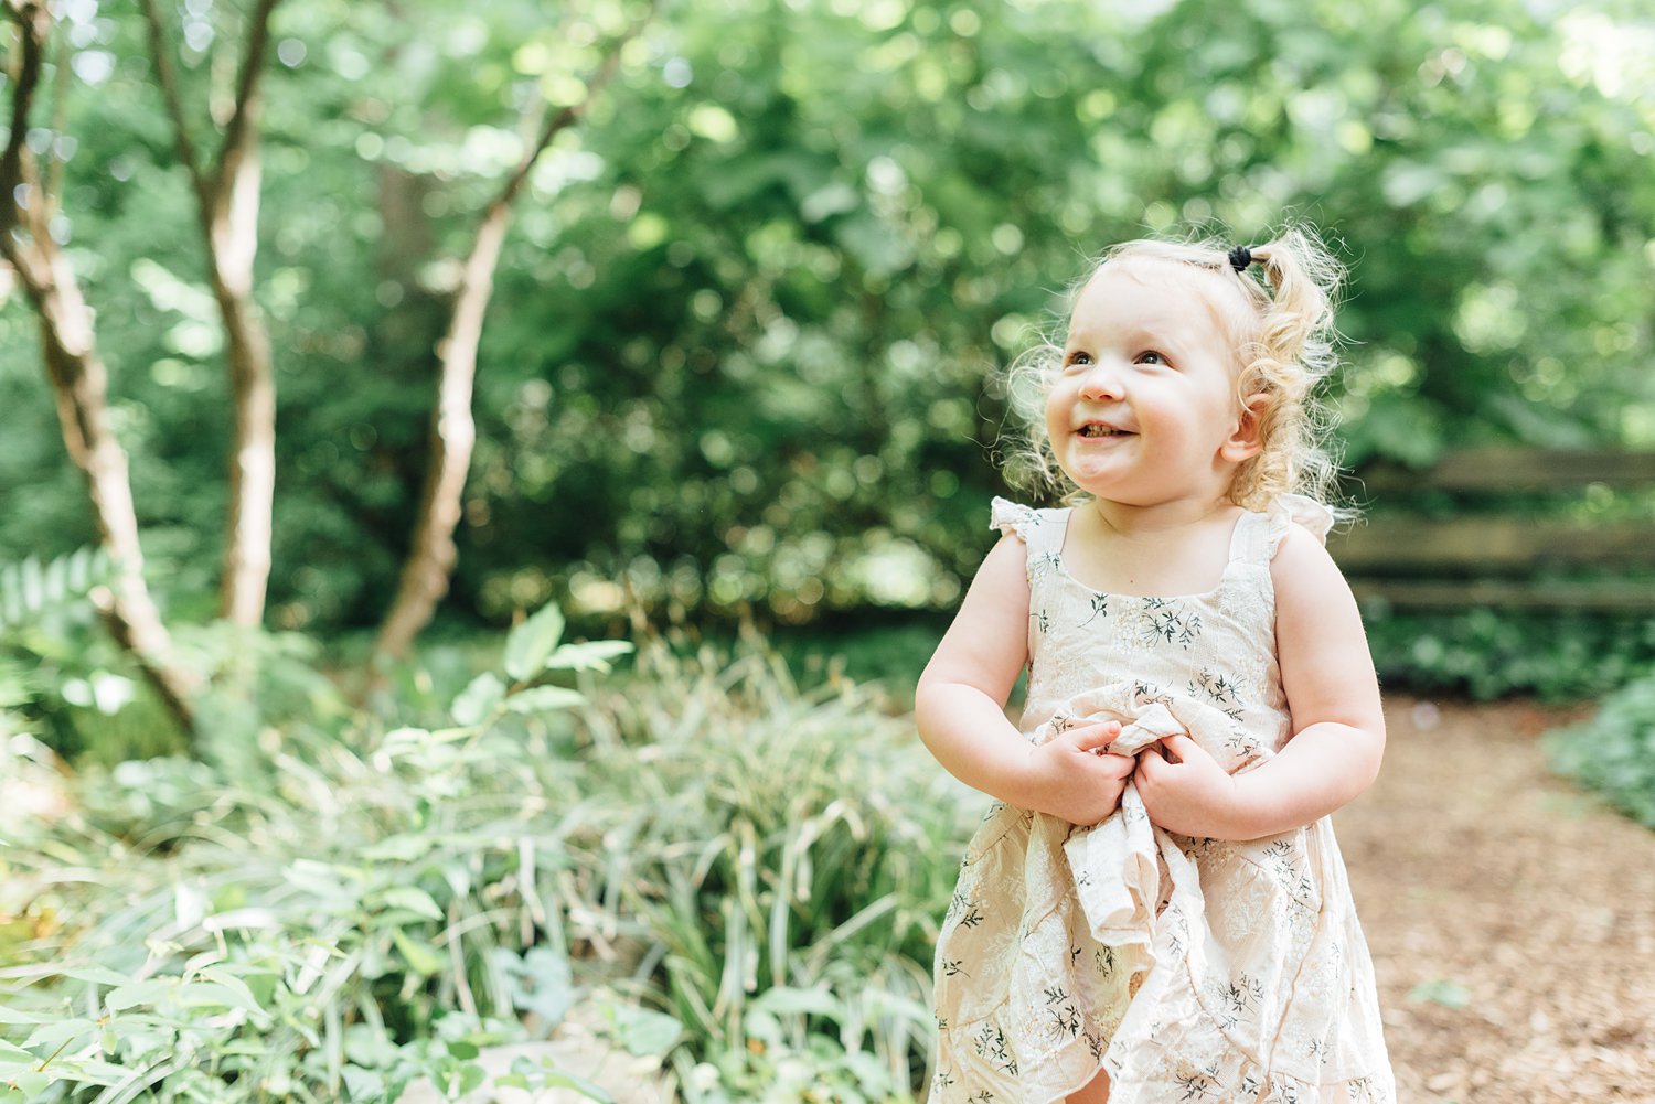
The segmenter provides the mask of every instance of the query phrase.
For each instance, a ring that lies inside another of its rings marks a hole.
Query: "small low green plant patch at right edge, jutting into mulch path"
[[[1610,694],[1579,725],[1546,735],[1559,773],[1655,828],[1655,674]]]

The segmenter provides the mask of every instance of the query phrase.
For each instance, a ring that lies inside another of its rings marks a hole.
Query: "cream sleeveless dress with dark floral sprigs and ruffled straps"
[[[1269,561],[1304,498],[1245,513],[1216,589],[1101,594],[1059,556],[1069,510],[995,500],[1028,550],[1041,743],[1117,718],[1117,750],[1187,732],[1225,770],[1291,735]],[[1109,1073],[1111,1104],[1392,1102],[1374,968],[1324,818],[1230,842],[1150,824],[1129,783],[1094,828],[996,803],[967,847],[937,943],[932,1104],[1046,1104]]]

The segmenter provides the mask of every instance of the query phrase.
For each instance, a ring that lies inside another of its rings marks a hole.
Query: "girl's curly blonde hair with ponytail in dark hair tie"
[[[1261,444],[1258,455],[1236,468],[1230,500],[1248,510],[1261,510],[1286,493],[1327,503],[1339,467],[1327,444],[1332,417],[1317,391],[1339,364],[1334,306],[1344,266],[1301,227],[1251,245],[1248,252],[1254,263],[1238,271],[1230,247],[1216,238],[1124,242],[1069,288],[1063,323],[1067,324],[1081,290],[1107,265],[1145,258],[1220,275],[1240,291],[1223,296],[1233,298],[1230,303],[1211,303],[1235,341],[1236,409],[1253,401]],[[1081,492],[1058,467],[1046,435],[1046,392],[1061,369],[1059,334],[1019,356],[1006,371],[1008,399],[1024,427],[1024,439],[1008,458],[1006,477],[1033,492],[1056,492],[1071,500]]]

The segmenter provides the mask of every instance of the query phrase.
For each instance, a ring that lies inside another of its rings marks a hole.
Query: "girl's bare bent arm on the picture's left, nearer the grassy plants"
[[[983,561],[953,624],[920,675],[914,718],[950,775],[1023,809],[1096,824],[1120,804],[1132,760],[1094,755],[1120,732],[1087,725],[1034,746],[1006,720],[1028,662],[1029,589],[1023,541],[1006,536]]]

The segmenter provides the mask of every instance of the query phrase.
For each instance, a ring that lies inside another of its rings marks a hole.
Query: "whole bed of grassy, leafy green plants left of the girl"
[[[518,626],[445,718],[88,766],[0,826],[0,1099],[457,1096],[571,1011],[690,1101],[907,1099],[971,803],[849,684],[755,644],[611,675],[629,646],[561,627]]]

